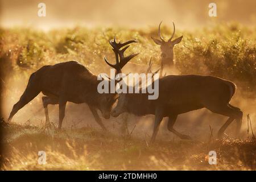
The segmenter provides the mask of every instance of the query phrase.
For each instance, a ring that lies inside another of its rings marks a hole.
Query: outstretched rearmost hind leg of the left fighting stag
[[[8,122],[11,121],[11,119],[14,117],[14,115],[20,110],[22,107],[24,107],[28,102],[33,100],[38,94],[40,93],[40,90],[38,86],[36,86],[34,82],[34,75],[32,74],[30,76],[30,80],[28,81],[27,88],[25,89],[24,93],[20,97],[19,101],[14,104],[13,109],[11,110],[11,113],[8,118]]]

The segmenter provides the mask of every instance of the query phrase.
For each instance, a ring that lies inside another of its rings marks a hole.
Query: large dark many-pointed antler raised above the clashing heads
[[[112,46],[112,50],[115,53],[115,64],[110,64],[109,61],[106,59],[106,57],[104,57],[106,64],[108,64],[110,67],[114,68],[117,71],[117,73],[120,73],[121,69],[128,63],[128,61],[130,61],[131,59],[133,59],[133,57],[135,57],[139,54],[139,53],[132,53],[129,56],[124,56],[123,53],[129,47],[126,45],[131,44],[131,43],[137,43],[137,42],[138,41],[136,41],[136,40],[129,40],[125,43],[121,43],[121,41],[119,41],[119,43],[117,43],[117,42],[115,42],[115,37],[114,37],[113,42],[110,40],[109,44]],[[126,46],[126,47],[121,49],[123,46]],[[120,57],[120,60],[119,60],[118,55]]]

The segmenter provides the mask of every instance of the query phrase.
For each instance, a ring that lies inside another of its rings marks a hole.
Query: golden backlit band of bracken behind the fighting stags
[[[163,27],[162,34],[171,35]],[[256,88],[255,27],[218,24],[194,31],[176,31],[183,40],[175,47],[176,68],[181,74],[213,75],[235,81],[246,91]],[[78,60],[93,72],[104,71],[104,56],[114,60],[109,40],[136,39],[127,53],[139,52],[134,63],[146,64],[153,56],[159,64],[160,48],[150,38],[157,28],[67,28],[43,32],[31,28],[1,28],[0,55],[8,53],[16,71],[32,72],[46,64]]]

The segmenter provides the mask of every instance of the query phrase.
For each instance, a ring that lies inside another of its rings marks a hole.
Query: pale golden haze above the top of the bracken
[[[195,28],[214,22],[256,23],[254,0],[1,0],[0,25],[33,26],[49,30],[76,26],[156,26],[174,20],[181,28]],[[38,17],[38,4],[46,3],[46,17]],[[217,17],[208,16],[209,3],[217,4]]]

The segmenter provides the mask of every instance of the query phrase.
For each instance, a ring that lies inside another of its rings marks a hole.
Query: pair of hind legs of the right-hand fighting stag
[[[222,106],[215,106],[215,107],[207,107],[210,111],[213,113],[218,113],[222,115],[226,115],[230,117],[228,121],[225,122],[225,124],[221,127],[221,129],[218,131],[218,137],[221,138],[226,128],[232,123],[234,119],[237,121],[237,130],[236,135],[237,137],[240,135],[241,126],[242,126],[242,117],[243,112],[238,108],[234,107],[230,104],[228,105],[222,105]]]

